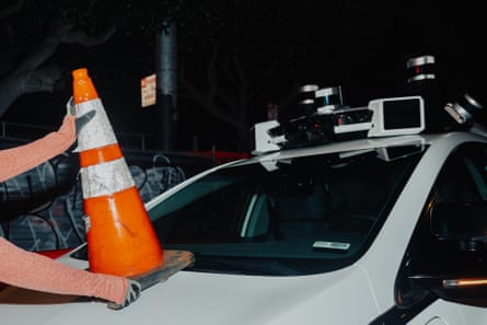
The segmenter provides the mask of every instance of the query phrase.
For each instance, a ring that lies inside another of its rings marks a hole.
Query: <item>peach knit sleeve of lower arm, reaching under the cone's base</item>
[[[128,280],[72,268],[24,251],[0,236],[0,282],[31,290],[123,303]]]

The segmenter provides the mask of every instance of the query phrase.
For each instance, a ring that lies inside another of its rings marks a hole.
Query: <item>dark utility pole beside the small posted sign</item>
[[[177,126],[177,34],[174,22],[164,21],[156,35],[156,105],[161,112],[161,149],[174,150]]]

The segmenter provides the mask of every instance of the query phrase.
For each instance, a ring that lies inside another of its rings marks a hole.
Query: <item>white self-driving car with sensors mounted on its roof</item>
[[[373,102],[364,123],[256,126],[254,156],[147,205],[189,267],[120,311],[7,287],[1,324],[487,324],[487,134],[429,132],[416,100]],[[417,125],[390,127],[405,112]],[[60,260],[89,268],[85,251]]]

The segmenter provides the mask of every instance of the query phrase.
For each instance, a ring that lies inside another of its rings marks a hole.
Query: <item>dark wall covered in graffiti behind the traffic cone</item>
[[[212,162],[159,152],[125,154],[143,201]],[[27,251],[74,247],[85,240],[78,155],[65,153],[0,183],[0,236]]]

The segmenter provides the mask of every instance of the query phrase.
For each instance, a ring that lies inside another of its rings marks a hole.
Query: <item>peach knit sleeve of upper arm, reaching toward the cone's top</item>
[[[66,115],[61,127],[31,143],[0,150],[0,182],[20,175],[60,154],[76,141],[76,117]]]

